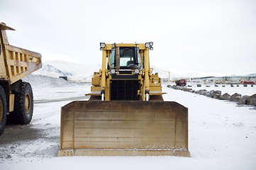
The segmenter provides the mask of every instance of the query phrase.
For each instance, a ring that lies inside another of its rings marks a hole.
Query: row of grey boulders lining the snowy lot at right
[[[221,91],[206,91],[206,89],[201,89],[199,91],[194,91],[193,89],[187,88],[187,87],[181,87],[181,86],[171,86],[168,85],[167,87],[182,91],[189,91],[194,94],[200,94],[204,96],[208,96],[211,98],[217,98],[220,100],[226,100],[226,101],[234,101],[238,103],[238,105],[252,105],[256,106],[256,94],[253,94],[252,96],[242,96],[241,94],[235,93],[235,94],[222,94]]]

